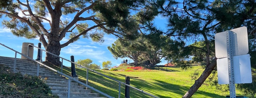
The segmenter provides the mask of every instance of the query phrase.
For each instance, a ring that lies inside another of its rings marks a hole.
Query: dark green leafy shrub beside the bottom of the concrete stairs
[[[0,65],[0,98],[59,98],[42,80],[12,73],[10,68]]]

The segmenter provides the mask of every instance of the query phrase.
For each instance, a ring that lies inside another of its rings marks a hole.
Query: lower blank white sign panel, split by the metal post
[[[252,83],[250,55],[234,56],[235,83]],[[217,59],[218,83],[229,84],[227,57]]]

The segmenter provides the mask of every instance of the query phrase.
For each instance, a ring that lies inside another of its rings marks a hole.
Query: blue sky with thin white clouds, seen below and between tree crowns
[[[155,19],[155,23],[159,24],[159,26],[162,26],[162,27],[164,26],[163,21],[164,20],[159,17]],[[68,39],[67,37],[63,38],[63,40],[60,43],[63,44],[64,42],[67,41],[67,39]],[[60,56],[70,60],[70,56],[73,55],[75,58],[75,61],[79,59],[82,59],[82,60],[91,59],[93,63],[97,65],[101,65],[101,68],[102,68],[103,61],[111,61],[112,62],[111,67],[118,66],[121,64],[121,61],[123,61],[124,59],[127,59],[127,60],[131,60],[131,59],[118,58],[116,60],[113,57],[113,55],[107,49],[107,47],[111,46],[111,44],[114,43],[116,39],[117,38],[114,35],[105,35],[104,43],[97,43],[97,42],[93,42],[91,39],[88,39],[88,38],[80,38],[78,41],[71,43],[68,46],[62,48],[60,52]],[[30,43],[33,43],[35,46],[37,46],[40,41],[38,38],[26,39],[22,37],[17,37],[11,33],[11,30],[6,29],[2,25],[0,25],[0,43],[1,44],[4,44],[18,52],[21,52],[23,42],[30,42]],[[42,49],[44,49],[43,46],[42,46]],[[45,52],[43,52],[42,55],[45,56]],[[14,57],[15,52],[12,52],[11,50],[0,45],[0,56]],[[34,48],[33,59],[36,59],[36,57],[37,57],[37,49]],[[17,58],[21,58],[21,55],[18,54]],[[43,57],[43,60],[44,60],[44,57]],[[162,60],[162,63],[158,65],[162,65],[166,63],[167,61]],[[70,63],[64,61],[64,65],[70,66]]]

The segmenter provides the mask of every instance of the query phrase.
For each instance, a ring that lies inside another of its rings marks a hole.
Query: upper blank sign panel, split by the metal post
[[[249,52],[247,28],[240,27],[230,31],[233,31],[233,56],[247,54]],[[215,54],[217,58],[227,57],[227,32],[225,31],[215,35]]]

